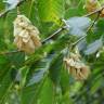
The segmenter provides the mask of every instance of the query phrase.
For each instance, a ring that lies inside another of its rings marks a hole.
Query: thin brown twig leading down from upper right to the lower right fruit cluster
[[[88,28],[87,32],[94,26],[95,22],[99,20],[100,17],[100,11],[98,11],[98,16],[95,17],[95,20],[93,21],[93,23],[91,24],[91,26]],[[73,43],[73,48],[78,44],[82,39],[84,39],[87,37],[87,35],[84,35],[83,37],[79,38],[76,42]]]

